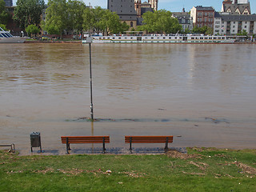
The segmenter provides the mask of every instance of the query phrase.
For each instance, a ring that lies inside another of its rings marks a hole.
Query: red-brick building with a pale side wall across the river
[[[190,10],[190,18],[193,26],[209,26],[214,28],[214,8],[211,6],[193,6]]]

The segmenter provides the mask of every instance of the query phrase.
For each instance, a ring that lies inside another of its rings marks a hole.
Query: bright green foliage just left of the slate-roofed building
[[[84,10],[83,21],[84,30],[93,30],[96,33],[118,34],[129,29],[125,22],[120,21],[118,14],[103,10],[99,6]]]

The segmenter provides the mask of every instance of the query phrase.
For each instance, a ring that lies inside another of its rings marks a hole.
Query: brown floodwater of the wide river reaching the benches
[[[255,44],[93,44],[102,120],[91,123],[80,119],[90,118],[88,45],[0,44],[0,144],[29,154],[38,131],[55,154],[65,154],[61,136],[92,134],[110,135],[106,147],[128,148],[124,135],[181,135],[170,146],[255,148],[255,53]]]

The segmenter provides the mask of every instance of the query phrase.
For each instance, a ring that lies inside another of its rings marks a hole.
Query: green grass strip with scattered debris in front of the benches
[[[0,151],[0,191],[256,191],[255,176],[256,150],[62,156]]]

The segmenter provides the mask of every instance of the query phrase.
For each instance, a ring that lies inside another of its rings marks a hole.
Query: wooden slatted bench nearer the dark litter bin
[[[68,154],[70,143],[103,143],[103,153],[105,154],[105,143],[110,143],[110,136],[62,136],[62,144],[66,144]]]

